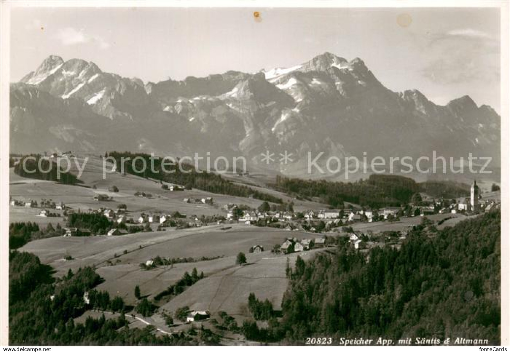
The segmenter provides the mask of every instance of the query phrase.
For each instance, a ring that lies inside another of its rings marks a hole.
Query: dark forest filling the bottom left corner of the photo
[[[156,336],[154,327],[129,328],[120,297],[110,299],[106,291],[94,287],[102,279],[91,267],[80,268],[59,279],[53,269],[41,264],[37,256],[12,251],[9,254],[9,344],[10,345],[196,345],[210,341],[210,331],[196,336],[179,333]],[[90,303],[84,301],[89,292]],[[116,319],[87,317],[74,319],[88,309],[121,312]]]

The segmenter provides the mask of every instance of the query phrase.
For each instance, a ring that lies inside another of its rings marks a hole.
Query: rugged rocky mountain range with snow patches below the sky
[[[405,72],[402,72],[405,74]],[[306,172],[328,156],[469,152],[500,159],[500,117],[469,96],[437,105],[417,90],[393,92],[365,63],[323,53],[256,73],[144,84],[93,62],[49,56],[10,86],[12,153],[107,150],[245,156],[250,166]],[[275,153],[267,164],[261,153]],[[278,154],[292,153],[292,163]]]

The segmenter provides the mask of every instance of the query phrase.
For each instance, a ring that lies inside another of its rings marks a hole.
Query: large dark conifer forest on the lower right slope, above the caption
[[[433,235],[418,225],[400,250],[355,251],[296,261],[281,320],[243,324],[251,340],[302,344],[306,337],[488,339],[500,343],[499,211]],[[248,304],[253,305],[253,298]],[[255,319],[255,316],[254,316]]]

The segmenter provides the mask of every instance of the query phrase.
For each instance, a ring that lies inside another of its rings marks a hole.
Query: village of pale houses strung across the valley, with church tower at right
[[[167,185],[162,187],[166,192],[183,191],[180,185]],[[113,202],[114,197],[108,194],[117,193],[119,189],[115,185],[108,187],[105,194],[99,193],[93,196],[94,202]],[[135,197],[156,198],[149,192],[136,191]],[[126,204],[119,203],[116,207],[99,206],[95,209],[74,209],[66,206],[62,201],[52,199],[17,199],[11,198],[12,207],[24,207],[37,209],[36,216],[42,218],[57,218],[62,220],[62,236],[119,236],[137,232],[166,231],[169,229],[181,230],[186,228],[200,228],[211,225],[242,224],[245,226],[270,227],[286,231],[300,231],[305,233],[324,234],[313,239],[298,239],[295,236],[282,238],[280,245],[274,246],[272,253],[289,254],[294,252],[308,251],[327,247],[327,236],[346,236],[352,242],[355,249],[369,249],[373,246],[381,246],[388,243],[388,236],[382,236],[377,240],[373,228],[368,231],[363,229],[363,224],[376,223],[399,223],[406,218],[425,218],[437,214],[455,214],[455,216],[473,215],[490,211],[500,206],[498,199],[483,198],[480,195],[476,181],[471,186],[471,196],[457,199],[434,199],[426,194],[416,194],[412,203],[405,206],[389,206],[378,209],[355,207],[350,205],[344,209],[310,209],[294,211],[292,204],[284,206],[285,210],[277,210],[281,206],[270,205],[263,202],[258,208],[246,204],[227,203],[217,204],[213,197],[187,197],[183,198],[185,204],[196,204],[200,207],[216,209],[214,215],[186,214],[179,210],[165,212],[163,209],[151,209],[150,211],[131,211]],[[99,231],[91,231],[90,228],[79,228],[68,225],[68,216],[79,212],[80,214],[97,214],[104,216],[109,225]],[[448,220],[449,218],[444,218]],[[444,220],[443,220],[444,222]],[[358,226],[356,226],[358,225]],[[224,227],[224,229],[227,229]],[[375,231],[377,232],[377,231]],[[396,232],[397,241],[405,239],[407,231],[402,229]],[[141,236],[143,234],[140,234]],[[259,253],[264,248],[258,243],[248,249],[249,253]]]

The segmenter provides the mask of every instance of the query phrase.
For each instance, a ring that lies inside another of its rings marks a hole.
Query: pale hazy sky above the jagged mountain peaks
[[[254,17],[254,11],[259,17]],[[387,88],[500,112],[499,9],[13,8],[11,82],[49,55],[144,82],[362,59]]]

